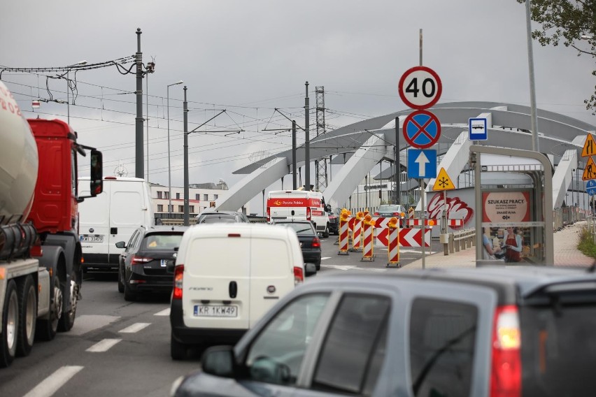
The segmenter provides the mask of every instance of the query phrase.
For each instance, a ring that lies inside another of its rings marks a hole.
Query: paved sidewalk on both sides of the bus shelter
[[[554,233],[555,266],[588,267],[595,263],[594,258],[586,257],[577,249],[579,234],[581,229],[586,226],[586,221],[576,222]],[[422,264],[423,260],[418,259],[404,266],[404,269],[420,269],[423,267]],[[476,267],[476,247],[470,247],[448,255],[441,251],[425,256],[425,268],[447,267]]]

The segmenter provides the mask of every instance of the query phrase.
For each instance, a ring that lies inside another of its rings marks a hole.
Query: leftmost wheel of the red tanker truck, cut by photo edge
[[[15,359],[19,324],[19,299],[14,280],[6,285],[2,311],[2,333],[0,334],[0,367],[6,368]]]

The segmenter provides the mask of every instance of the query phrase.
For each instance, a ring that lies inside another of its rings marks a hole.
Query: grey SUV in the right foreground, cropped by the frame
[[[462,268],[319,275],[182,396],[591,396],[596,274]]]

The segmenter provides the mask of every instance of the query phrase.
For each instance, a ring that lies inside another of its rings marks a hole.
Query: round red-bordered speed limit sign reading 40
[[[399,79],[399,96],[413,109],[430,108],[439,101],[442,91],[439,75],[426,66],[410,68]]]

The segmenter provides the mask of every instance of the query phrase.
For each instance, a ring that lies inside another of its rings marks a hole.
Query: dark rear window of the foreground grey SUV
[[[581,295],[520,308],[523,396],[593,396],[596,296]]]

